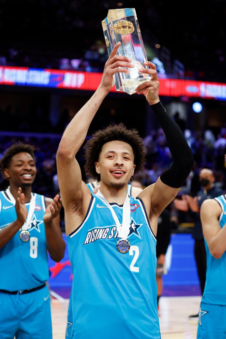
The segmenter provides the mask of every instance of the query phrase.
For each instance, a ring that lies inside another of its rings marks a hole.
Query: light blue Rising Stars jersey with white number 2
[[[111,205],[122,223],[122,205]],[[130,198],[130,225],[130,250],[122,254],[110,210],[92,195],[83,222],[67,236],[73,272],[72,338],[161,338],[156,237],[139,198]]]

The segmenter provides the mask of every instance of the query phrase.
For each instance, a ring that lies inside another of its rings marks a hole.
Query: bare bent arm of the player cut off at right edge
[[[222,208],[214,199],[207,199],[201,205],[200,217],[203,227],[203,235],[211,255],[220,259],[226,251],[226,226],[221,228],[218,218]]]

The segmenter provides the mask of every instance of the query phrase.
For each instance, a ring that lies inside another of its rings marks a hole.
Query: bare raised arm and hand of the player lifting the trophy
[[[85,195],[90,195],[88,187],[82,182],[81,170],[75,158],[85,140],[89,125],[103,99],[114,85],[114,74],[128,73],[124,67],[133,67],[130,59],[116,55],[119,46],[120,43],[114,47],[105,64],[97,91],[71,120],[59,144],[57,171],[62,203],[66,211],[71,205],[75,205],[75,202],[78,206],[77,202],[83,200]]]

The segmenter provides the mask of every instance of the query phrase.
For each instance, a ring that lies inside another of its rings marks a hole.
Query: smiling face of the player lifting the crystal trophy
[[[95,162],[101,181],[115,188],[127,185],[134,173],[132,147],[124,141],[109,141],[103,145],[99,161]]]

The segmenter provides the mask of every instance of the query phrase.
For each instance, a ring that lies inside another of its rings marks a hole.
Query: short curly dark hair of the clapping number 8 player
[[[11,159],[15,154],[20,153],[20,152],[29,153],[35,161],[34,151],[35,151],[35,146],[24,144],[23,142],[17,142],[11,145],[7,149],[5,155],[0,160],[0,171],[1,171],[2,176],[5,177],[4,169],[8,168],[9,163],[11,162]]]

